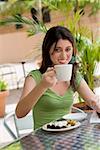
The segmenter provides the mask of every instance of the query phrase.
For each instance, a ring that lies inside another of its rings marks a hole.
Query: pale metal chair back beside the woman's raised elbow
[[[4,117],[4,126],[14,139],[29,134],[34,129],[32,111],[20,119],[16,117],[14,111],[9,113]]]

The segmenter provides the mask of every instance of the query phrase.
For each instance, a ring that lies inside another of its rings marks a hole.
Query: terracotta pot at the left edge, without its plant
[[[8,95],[9,95],[9,91],[0,92],[0,117],[4,117],[5,115],[5,104]]]

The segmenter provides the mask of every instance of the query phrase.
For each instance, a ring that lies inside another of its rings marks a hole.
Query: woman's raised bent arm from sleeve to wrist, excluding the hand
[[[22,96],[16,107],[16,116],[18,118],[26,116],[45,91],[46,88],[41,83],[36,85],[35,80],[31,76],[27,77]]]

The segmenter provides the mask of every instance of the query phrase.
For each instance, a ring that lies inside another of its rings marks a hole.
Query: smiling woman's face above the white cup
[[[70,41],[60,39],[55,47],[55,43],[50,49],[50,59],[54,65],[68,64],[72,58],[73,46]]]

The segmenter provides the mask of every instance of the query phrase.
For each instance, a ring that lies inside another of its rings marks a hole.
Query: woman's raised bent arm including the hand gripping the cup
[[[56,75],[52,67],[47,69],[42,75],[40,83],[37,85],[35,80],[31,76],[28,76],[25,80],[22,96],[16,107],[16,116],[18,118],[26,116],[44,92],[55,84]]]

